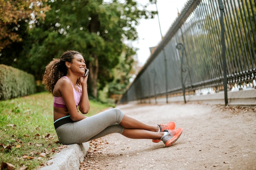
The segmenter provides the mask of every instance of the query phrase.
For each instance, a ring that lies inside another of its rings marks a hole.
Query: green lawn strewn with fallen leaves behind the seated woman
[[[108,109],[110,105],[90,100],[86,116]],[[58,143],[53,125],[53,97],[47,92],[0,101],[0,163],[15,169],[37,169],[54,153]],[[3,167],[1,167],[2,169]]]

